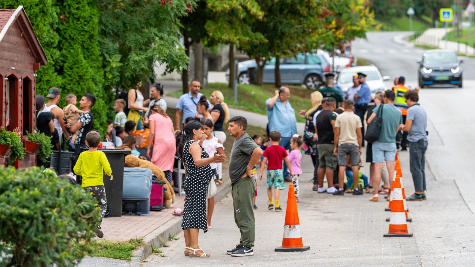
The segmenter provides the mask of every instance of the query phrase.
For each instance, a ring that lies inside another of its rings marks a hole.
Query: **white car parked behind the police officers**
[[[371,101],[373,101],[377,92],[386,90],[387,87],[384,81],[389,81],[390,76],[381,76],[379,69],[373,65],[345,68],[338,74],[336,83],[342,86],[343,91],[346,92],[348,88],[353,86],[353,75],[358,72],[366,74],[366,83],[371,90]]]

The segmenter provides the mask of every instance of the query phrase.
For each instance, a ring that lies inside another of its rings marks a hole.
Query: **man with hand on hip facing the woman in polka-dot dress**
[[[254,238],[256,223],[254,220],[254,191],[256,182],[254,166],[260,161],[262,150],[254,140],[246,134],[247,120],[243,116],[234,116],[229,120],[229,135],[236,138],[229,158],[229,178],[231,178],[234,206],[234,221],[241,238],[236,248],[226,253],[231,256],[254,255]]]

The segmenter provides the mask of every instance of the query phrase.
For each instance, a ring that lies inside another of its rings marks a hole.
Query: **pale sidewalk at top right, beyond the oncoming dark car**
[[[451,31],[451,28],[434,28],[427,29],[421,36],[416,38],[414,42],[416,44],[429,45],[441,49],[453,50],[460,54],[475,55],[475,48],[470,47],[464,43],[458,44],[457,42],[447,41],[444,36],[447,32]]]

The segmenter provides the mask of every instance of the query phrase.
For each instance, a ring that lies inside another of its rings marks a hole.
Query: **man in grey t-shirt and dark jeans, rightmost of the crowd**
[[[427,151],[427,113],[419,104],[419,95],[416,91],[407,91],[404,93],[406,103],[408,103],[408,115],[406,124],[402,128],[408,131],[409,141],[409,165],[414,181],[415,193],[407,200],[425,200],[426,199],[426,172],[425,172],[425,154]]]

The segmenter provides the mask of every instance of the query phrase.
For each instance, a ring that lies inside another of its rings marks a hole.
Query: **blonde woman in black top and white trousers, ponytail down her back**
[[[221,143],[224,143],[226,141],[226,133],[224,132],[223,124],[229,121],[228,105],[224,103],[224,96],[220,91],[211,93],[209,102],[213,105],[211,116],[214,123],[214,136],[218,137]]]

